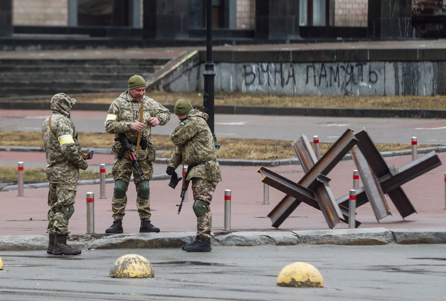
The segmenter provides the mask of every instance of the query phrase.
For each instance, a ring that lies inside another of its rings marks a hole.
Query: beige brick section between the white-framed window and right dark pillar
[[[336,0],[335,26],[367,27],[369,0]]]

